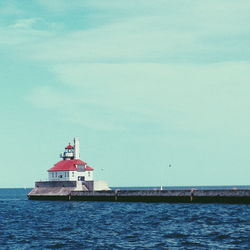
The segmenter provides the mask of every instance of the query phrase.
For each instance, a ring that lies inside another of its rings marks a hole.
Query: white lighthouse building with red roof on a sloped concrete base
[[[35,188],[28,194],[33,199],[70,198],[73,191],[110,190],[106,181],[94,180],[94,169],[80,159],[80,141],[74,138],[64,152],[61,160],[48,169],[48,181],[36,181]]]

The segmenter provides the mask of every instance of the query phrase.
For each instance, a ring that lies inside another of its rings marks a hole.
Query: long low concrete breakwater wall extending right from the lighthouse
[[[46,188],[47,189],[47,188]],[[182,202],[182,203],[241,203],[250,204],[250,189],[224,190],[109,190],[109,191],[70,191],[57,193],[28,194],[31,200],[68,200],[68,201],[112,201],[112,202]]]

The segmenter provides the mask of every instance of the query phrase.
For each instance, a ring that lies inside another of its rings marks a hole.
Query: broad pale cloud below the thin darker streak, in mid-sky
[[[244,133],[249,128],[243,124],[250,122],[245,116],[249,66],[60,65],[55,72],[70,94],[39,87],[33,99],[71,122],[98,124],[99,129],[126,129],[151,121],[158,129],[233,132],[241,126]]]

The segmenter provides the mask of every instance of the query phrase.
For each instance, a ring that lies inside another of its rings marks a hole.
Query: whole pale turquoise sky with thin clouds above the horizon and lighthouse
[[[249,185],[249,44],[249,0],[0,0],[0,187],[74,137],[110,186]]]

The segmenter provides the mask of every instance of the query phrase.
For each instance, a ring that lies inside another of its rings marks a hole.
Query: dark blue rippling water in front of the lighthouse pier
[[[250,205],[31,201],[0,189],[0,249],[250,249]]]

